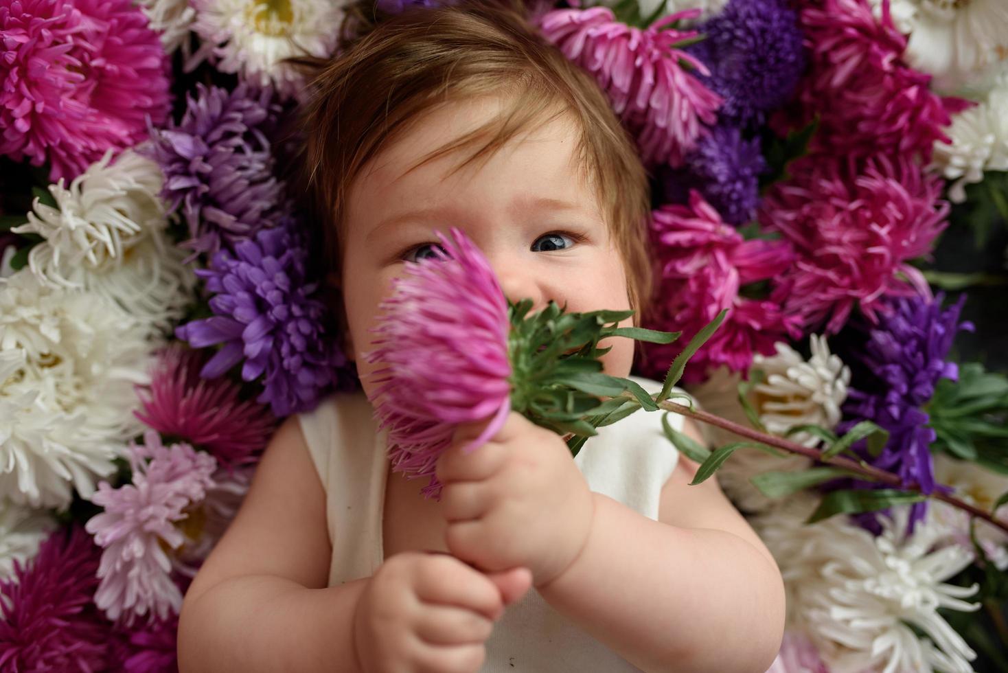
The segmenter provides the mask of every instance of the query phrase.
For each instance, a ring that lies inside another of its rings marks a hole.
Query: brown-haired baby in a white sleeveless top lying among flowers
[[[661,412],[575,459],[515,412],[469,454],[485,423],[462,426],[438,502],[390,472],[366,395],[378,306],[433,229],[462,229],[512,301],[647,310],[647,177],[598,85],[484,1],[374,27],[314,91],[304,160],[364,392],[277,431],[185,595],[180,669],[765,671],[777,566],[716,480],[688,486]],[[627,377],[634,343],[607,341]]]

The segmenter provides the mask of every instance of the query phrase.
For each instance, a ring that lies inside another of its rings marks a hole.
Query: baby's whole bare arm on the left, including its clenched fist
[[[472,672],[493,621],[531,583],[521,568],[486,575],[406,552],[327,587],[331,551],[326,495],[291,419],[185,593],[179,670]]]

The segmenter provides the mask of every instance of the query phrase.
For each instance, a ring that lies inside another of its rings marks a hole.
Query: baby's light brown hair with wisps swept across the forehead
[[[330,277],[342,272],[347,197],[365,164],[434,106],[503,96],[498,117],[417,165],[471,150],[459,170],[489,159],[520,132],[568,115],[577,126],[582,178],[597,194],[623,256],[629,302],[640,324],[652,294],[647,173],[594,79],[539,35],[519,0],[462,0],[378,23],[369,21],[371,6],[373,0],[358,5],[351,17],[355,37],[339,54],[325,62],[302,61],[314,73],[299,120],[305,139],[300,182],[323,228]],[[337,314],[344,319],[342,308]]]

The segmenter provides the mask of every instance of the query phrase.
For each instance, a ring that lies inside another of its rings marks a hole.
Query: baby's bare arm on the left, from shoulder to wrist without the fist
[[[295,419],[276,432],[224,537],[185,593],[190,671],[353,670],[350,619],[366,580],[325,588],[326,494]]]

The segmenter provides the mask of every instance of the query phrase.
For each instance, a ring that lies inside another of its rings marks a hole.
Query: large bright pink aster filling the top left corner
[[[0,6],[0,154],[73,179],[168,114],[168,58],[131,0]]]

